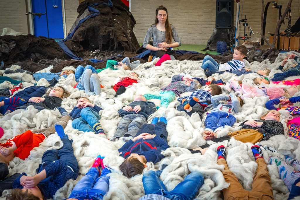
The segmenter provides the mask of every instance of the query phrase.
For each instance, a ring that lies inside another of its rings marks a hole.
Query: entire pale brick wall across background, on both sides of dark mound
[[[64,2],[68,33],[78,16],[77,7],[79,2],[78,0],[64,0]],[[241,0],[241,9],[242,2]],[[265,3],[267,2],[265,0]],[[288,0],[278,0],[277,2],[283,4],[283,13]],[[154,23],[156,7],[161,4],[168,8],[169,21],[176,27],[182,44],[207,43],[215,26],[215,0],[131,0],[131,12],[137,21],[134,33],[140,43],[143,42],[149,25]],[[294,0],[292,2],[292,24],[299,17],[298,6],[298,1]],[[28,33],[25,13],[25,0],[0,0],[0,32],[2,28],[9,27],[16,31]],[[260,32],[261,1],[244,0],[243,13],[240,13],[240,19],[244,18],[245,14],[254,33]],[[278,10],[270,6],[268,9],[266,33],[267,31],[274,32],[277,15]],[[287,20],[286,25],[282,26],[282,30],[284,30],[287,26]],[[240,35],[243,34],[244,29],[241,26]]]

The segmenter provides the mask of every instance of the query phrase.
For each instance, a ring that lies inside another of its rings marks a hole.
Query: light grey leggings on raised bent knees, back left
[[[101,94],[99,76],[96,73],[92,73],[92,70],[84,70],[79,82],[84,87],[84,92],[89,96]]]

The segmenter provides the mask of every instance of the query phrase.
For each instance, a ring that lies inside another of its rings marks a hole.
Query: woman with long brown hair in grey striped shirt
[[[149,44],[151,38],[153,38],[153,46]],[[174,43],[172,43],[173,39],[175,41]],[[148,28],[143,41],[143,47],[152,51],[164,50],[169,54],[172,50],[170,48],[180,45],[181,41],[177,31],[175,27],[169,23],[167,8],[162,5],[159,6],[156,9],[155,23]]]

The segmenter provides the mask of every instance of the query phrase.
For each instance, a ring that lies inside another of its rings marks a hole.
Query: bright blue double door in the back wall
[[[61,0],[32,0],[32,13],[46,13],[33,19],[36,37],[64,38]]]

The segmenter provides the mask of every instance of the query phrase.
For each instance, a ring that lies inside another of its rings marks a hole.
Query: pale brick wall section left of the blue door
[[[28,34],[26,4],[24,0],[0,0],[0,35],[3,28],[12,28]]]

